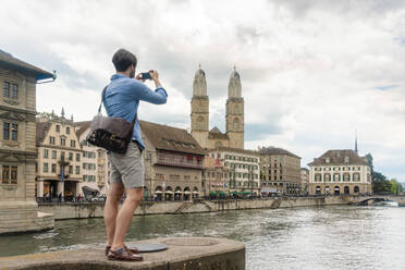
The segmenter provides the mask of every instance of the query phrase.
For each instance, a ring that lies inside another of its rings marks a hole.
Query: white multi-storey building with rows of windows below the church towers
[[[209,150],[209,156],[223,164],[222,179],[226,189],[232,193],[260,194],[259,155],[257,151],[240,148],[219,147]],[[205,184],[207,185],[208,179]],[[207,187],[206,187],[207,188]]]

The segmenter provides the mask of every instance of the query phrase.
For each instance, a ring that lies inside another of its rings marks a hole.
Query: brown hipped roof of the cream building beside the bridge
[[[345,157],[348,157],[348,162],[344,162]],[[330,159],[329,163],[327,163],[327,158]],[[308,163],[308,165],[327,165],[327,164],[328,165],[329,164],[368,165],[368,163],[352,149],[328,150],[322,156],[314,159],[312,162]]]

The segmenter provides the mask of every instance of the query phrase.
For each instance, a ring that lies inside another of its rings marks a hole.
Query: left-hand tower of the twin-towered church
[[[193,82],[192,136],[202,148],[208,148],[209,99],[207,96],[206,73],[199,65]]]

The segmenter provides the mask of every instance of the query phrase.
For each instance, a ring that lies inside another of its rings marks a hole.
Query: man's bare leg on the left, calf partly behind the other
[[[108,192],[107,201],[105,205],[105,224],[109,246],[111,246],[114,241],[118,207],[124,191],[125,188],[122,183],[111,183]]]

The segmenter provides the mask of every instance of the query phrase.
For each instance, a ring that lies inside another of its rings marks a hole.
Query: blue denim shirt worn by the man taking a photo
[[[122,74],[114,74],[111,76],[111,82],[107,86],[103,103],[108,116],[122,118],[132,122],[135,113],[138,111],[139,100],[154,105],[164,105],[167,99],[168,94],[162,87],[158,87],[152,91],[148,86],[136,78],[130,78]],[[144,142],[140,137],[138,119],[136,119],[134,125],[132,139],[137,140],[140,147],[145,149]]]

